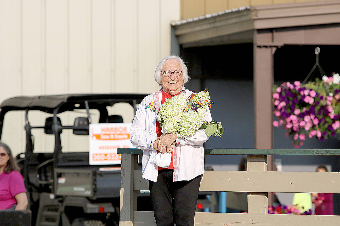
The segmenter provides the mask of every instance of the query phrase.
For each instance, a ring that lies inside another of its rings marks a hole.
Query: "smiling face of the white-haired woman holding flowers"
[[[182,64],[176,59],[166,60],[163,64],[162,71],[176,71],[182,70]],[[173,73],[169,77],[160,73],[160,84],[163,86],[163,91],[170,95],[175,95],[182,90],[183,73],[180,76],[175,76]]]

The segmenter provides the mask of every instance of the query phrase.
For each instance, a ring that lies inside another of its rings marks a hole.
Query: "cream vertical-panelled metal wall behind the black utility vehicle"
[[[170,54],[170,21],[178,19],[180,0],[0,0],[0,102],[19,95],[152,93],[159,88],[154,69]],[[124,106],[117,111],[132,120]],[[24,115],[5,121],[2,140],[23,152]],[[35,149],[51,150],[53,140],[40,136]],[[70,143],[65,138],[64,150]]]

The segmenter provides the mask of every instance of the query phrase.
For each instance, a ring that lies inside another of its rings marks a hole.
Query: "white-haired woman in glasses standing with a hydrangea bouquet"
[[[130,130],[132,144],[143,150],[142,177],[149,181],[157,225],[194,225],[198,191],[204,174],[203,143],[209,136],[204,129],[185,139],[176,133],[162,134],[156,120],[166,98],[180,93],[189,97],[193,93],[183,86],[188,79],[188,69],[178,56],[171,55],[160,61],[155,80],[162,88],[143,99]],[[204,121],[211,121],[208,107]],[[158,152],[171,152],[168,168],[155,165],[153,158]]]

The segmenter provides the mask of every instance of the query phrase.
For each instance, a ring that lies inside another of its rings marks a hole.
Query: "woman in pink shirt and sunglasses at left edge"
[[[0,142],[0,210],[24,210],[28,204],[19,167],[8,145]]]

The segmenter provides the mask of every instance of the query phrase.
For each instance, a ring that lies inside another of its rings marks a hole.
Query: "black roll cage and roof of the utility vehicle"
[[[0,105],[0,140],[2,136],[2,128],[4,116],[9,111],[25,111],[26,130],[26,149],[24,158],[23,177],[25,178],[25,186],[29,185],[28,162],[33,153],[34,141],[32,141],[31,129],[45,128],[45,126],[31,126],[28,119],[30,110],[40,110],[53,114],[52,131],[54,135],[54,152],[53,152],[53,168],[58,164],[58,154],[61,152],[60,133],[62,129],[88,129],[88,126],[63,126],[57,120],[57,114],[65,111],[73,111],[76,109],[86,109],[87,118],[91,123],[90,109],[97,109],[100,112],[99,122],[105,123],[108,117],[106,106],[113,106],[115,103],[129,103],[136,114],[137,104],[140,104],[146,94],[75,94],[75,95],[46,95],[34,97],[14,97],[3,101]],[[75,106],[75,104],[79,104]],[[52,193],[54,187],[52,186]]]

